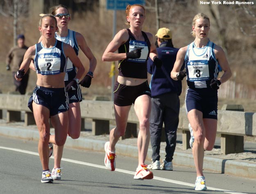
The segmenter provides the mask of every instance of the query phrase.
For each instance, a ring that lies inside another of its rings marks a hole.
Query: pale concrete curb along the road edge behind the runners
[[[15,138],[25,138],[38,140],[39,134],[36,130],[0,126],[0,135],[11,136]],[[120,141],[119,141],[120,142]],[[104,152],[103,140],[92,140],[89,138],[72,139],[67,138],[65,145],[72,148],[82,148],[87,150],[94,150]],[[117,143],[116,152],[137,158],[138,148],[133,145],[125,145]],[[165,155],[165,151],[161,150],[160,153]],[[147,159],[150,160],[152,149],[148,149]],[[177,166],[195,167],[192,153],[174,152],[173,164]],[[221,174],[229,174],[233,176],[240,176],[245,178],[256,178],[256,163],[245,162],[242,160],[223,159],[217,157],[204,156],[204,170],[214,171]]]

